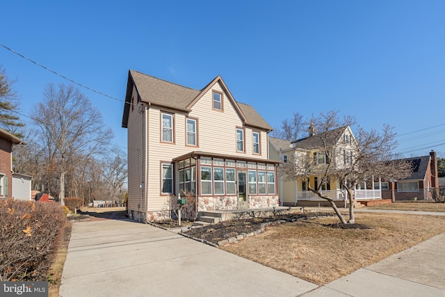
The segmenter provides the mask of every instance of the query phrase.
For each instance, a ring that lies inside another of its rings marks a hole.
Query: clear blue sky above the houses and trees
[[[405,156],[445,156],[442,0],[3,1],[0,10],[0,44],[118,99],[129,69],[195,89],[220,74],[273,127],[293,112],[339,110],[368,130],[396,127]],[[3,47],[0,64],[24,114],[47,83],[70,83]],[[123,102],[81,91],[126,147]]]

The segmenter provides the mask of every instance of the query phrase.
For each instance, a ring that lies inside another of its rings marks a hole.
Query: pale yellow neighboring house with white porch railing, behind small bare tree
[[[278,177],[278,188],[282,205],[327,205],[327,201],[310,191],[309,186],[311,188],[320,186],[323,195],[334,201],[337,200],[339,204],[344,203],[346,191],[342,188],[341,181],[334,175],[328,176],[327,180],[322,180],[321,176],[324,172],[323,166],[328,163],[332,166],[333,172],[353,163],[353,152],[357,150],[357,143],[350,127],[340,127],[321,134],[315,134],[309,128],[309,136],[306,138],[286,141],[280,138],[269,137],[269,141],[270,159],[280,160],[283,163],[288,161],[302,163],[310,161],[314,164],[309,180],[297,178],[289,181],[285,176]],[[317,166],[321,167],[319,172],[317,172]],[[298,167],[297,165],[296,168]],[[372,185],[360,184],[355,189],[355,199],[381,199],[381,191],[379,189],[374,190],[373,188],[374,182]]]

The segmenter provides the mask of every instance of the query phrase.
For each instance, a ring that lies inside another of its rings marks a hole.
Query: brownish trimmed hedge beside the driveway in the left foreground
[[[60,204],[0,200],[0,281],[46,280],[65,224]]]

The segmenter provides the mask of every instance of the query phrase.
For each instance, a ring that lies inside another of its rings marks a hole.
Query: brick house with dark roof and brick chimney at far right
[[[437,153],[407,158],[412,174],[398,181],[382,182],[382,198],[393,200],[431,200],[431,188],[439,187]]]

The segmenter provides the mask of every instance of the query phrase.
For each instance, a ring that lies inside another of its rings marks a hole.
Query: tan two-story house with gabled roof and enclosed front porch
[[[128,213],[169,218],[177,198],[187,214],[274,207],[277,163],[270,125],[236,102],[221,77],[201,90],[130,70],[122,127],[128,129]]]

